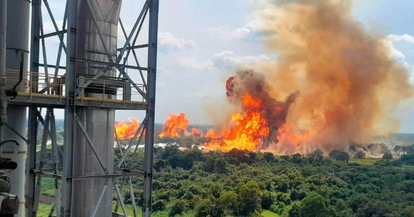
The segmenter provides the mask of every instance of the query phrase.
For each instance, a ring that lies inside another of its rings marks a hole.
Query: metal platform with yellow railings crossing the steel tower
[[[37,106],[41,108],[53,107],[65,109],[66,106],[66,77],[62,75],[48,76],[46,73],[22,72],[17,70],[6,70],[9,79],[7,86],[15,86],[16,95],[9,100],[9,104],[20,106]],[[18,77],[23,79],[20,84]],[[35,79],[34,79],[35,78]],[[27,80],[28,79],[28,80]],[[37,82],[33,82],[36,80]],[[142,91],[134,91],[134,88],[144,89],[143,84],[132,84],[126,79],[117,78],[94,78],[83,77],[77,78],[78,96],[75,97],[75,106],[95,107],[101,109],[119,109],[119,110],[146,110],[148,103],[145,101]],[[87,85],[85,85],[87,84]],[[94,87],[90,87],[94,84]],[[116,98],[108,97],[88,97],[85,96],[85,90],[88,88],[93,93],[104,95],[108,91],[108,86],[118,94]],[[35,88],[34,88],[35,87]],[[114,89],[116,87],[116,89]],[[135,100],[134,100],[135,99]]]

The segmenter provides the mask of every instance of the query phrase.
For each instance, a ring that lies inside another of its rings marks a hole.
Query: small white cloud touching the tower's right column
[[[194,49],[197,47],[197,44],[195,44],[193,40],[175,37],[170,32],[159,32],[158,46],[159,50],[163,50],[169,53],[171,51],[183,51]]]

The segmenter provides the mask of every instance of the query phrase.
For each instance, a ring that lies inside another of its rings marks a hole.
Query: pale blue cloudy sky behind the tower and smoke
[[[51,1],[51,6],[63,12],[59,1]],[[226,109],[224,82],[228,75],[239,64],[272,59],[273,54],[268,53],[264,41],[255,35],[262,2],[160,0],[156,122],[164,122],[167,113],[179,112],[186,112],[191,123],[211,122],[212,113]],[[121,18],[130,28],[141,3],[133,0],[123,3]],[[131,7],[134,5],[137,7]],[[395,47],[396,58],[412,71],[414,28],[410,21],[414,20],[414,1],[364,0],[357,1],[353,8],[355,19],[367,30],[394,36],[388,39]],[[45,22],[47,26],[48,19]],[[51,42],[50,47],[53,46],[57,46],[57,41]],[[413,102],[403,102],[395,114],[403,117],[400,132],[414,133]],[[213,112],[211,108],[217,105],[221,108]],[[142,115],[117,111],[117,120],[130,116]]]

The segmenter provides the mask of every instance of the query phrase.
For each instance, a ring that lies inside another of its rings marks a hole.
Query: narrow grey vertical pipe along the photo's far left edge
[[[3,141],[4,124],[7,122],[6,98],[6,30],[7,0],[0,0],[0,142]]]

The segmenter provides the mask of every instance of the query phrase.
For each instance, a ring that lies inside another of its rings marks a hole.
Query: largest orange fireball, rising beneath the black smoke
[[[230,127],[221,129],[221,133],[208,131],[206,138],[212,141],[204,144],[208,149],[230,151],[231,149],[246,149],[256,151],[263,138],[269,135],[267,121],[262,117],[261,102],[246,93],[242,95],[244,112],[235,113],[230,120]]]

